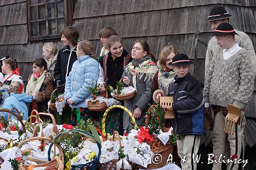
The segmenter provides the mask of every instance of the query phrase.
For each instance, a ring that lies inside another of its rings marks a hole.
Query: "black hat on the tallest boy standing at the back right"
[[[228,14],[228,12],[222,6],[216,6],[210,10],[210,15],[208,16],[206,21],[225,19],[231,16],[232,15]]]

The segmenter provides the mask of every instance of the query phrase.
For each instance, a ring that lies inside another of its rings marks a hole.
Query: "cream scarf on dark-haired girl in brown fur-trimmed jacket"
[[[39,77],[37,77],[36,81],[34,80],[35,79],[34,74],[31,75],[28,85],[27,85],[26,94],[32,94],[32,93],[39,92],[39,90],[42,86],[42,83],[44,83],[46,73],[47,73],[47,71],[44,70],[44,72],[42,72],[42,74]]]

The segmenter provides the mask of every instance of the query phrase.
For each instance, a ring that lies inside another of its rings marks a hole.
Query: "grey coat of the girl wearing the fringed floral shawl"
[[[147,55],[143,57],[141,60],[133,60],[132,63],[136,67],[142,62],[149,59],[152,59],[152,57],[150,55]],[[130,86],[134,86],[132,74],[130,72],[123,71],[122,77],[125,77],[125,76],[129,77],[131,81]],[[136,123],[139,128],[144,126],[145,124],[146,111],[148,109],[148,104],[151,103],[152,101],[152,94],[153,94],[152,93],[153,79],[150,79],[150,80],[146,79],[146,81],[144,81],[144,79],[145,79],[145,75],[143,75],[141,79],[139,78],[139,76],[137,76],[136,95],[132,99],[124,101],[124,106],[128,108],[131,112],[134,112],[134,110],[137,107],[139,107],[142,110],[142,114],[140,118],[136,119]],[[134,129],[132,119],[129,116],[129,114],[127,114],[126,112],[123,113],[123,129],[124,130]]]

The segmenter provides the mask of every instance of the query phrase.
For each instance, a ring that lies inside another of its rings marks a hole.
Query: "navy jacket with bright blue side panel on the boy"
[[[179,135],[203,135],[204,98],[199,83],[189,72],[183,78],[176,75],[174,83],[169,86],[168,95],[174,96],[174,132]]]

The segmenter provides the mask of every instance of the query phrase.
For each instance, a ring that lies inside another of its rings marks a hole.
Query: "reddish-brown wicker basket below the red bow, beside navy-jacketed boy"
[[[166,162],[168,160],[169,154],[173,152],[173,145],[172,144],[166,144],[164,145],[161,140],[159,140],[157,137],[155,137],[155,140],[151,143],[146,142],[148,145],[150,145],[150,149],[154,154],[160,154],[162,156],[162,161],[159,164],[148,164],[147,167],[140,166],[142,169],[156,169],[161,168],[166,165]]]

